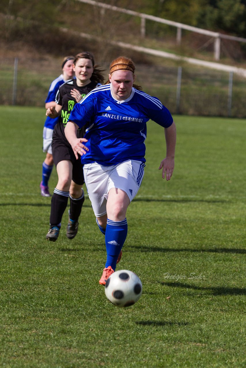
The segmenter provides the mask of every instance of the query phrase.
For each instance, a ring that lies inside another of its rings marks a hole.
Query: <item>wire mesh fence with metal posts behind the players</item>
[[[44,106],[49,85],[61,74],[62,59],[0,59],[0,104]],[[103,65],[105,79],[108,65]],[[138,84],[157,96],[171,113],[246,117],[246,81],[236,74],[167,65],[136,65]]]

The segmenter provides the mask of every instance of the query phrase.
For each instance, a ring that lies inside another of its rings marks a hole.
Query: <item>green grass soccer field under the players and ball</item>
[[[127,213],[117,269],[143,294],[110,304],[98,284],[104,237],[86,197],[79,233],[47,242],[39,192],[45,110],[1,106],[0,367],[245,367],[246,121],[175,116],[176,166],[158,170],[149,122],[145,178]],[[56,185],[52,173],[50,188]]]

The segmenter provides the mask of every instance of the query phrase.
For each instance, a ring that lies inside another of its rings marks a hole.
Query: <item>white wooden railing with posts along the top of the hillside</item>
[[[229,35],[224,35],[223,33],[219,33],[219,32],[208,31],[207,29],[201,29],[201,28],[193,27],[193,26],[190,26],[190,25],[187,25],[187,24],[170,21],[170,20],[167,20],[167,19],[163,19],[163,18],[155,17],[153,15],[149,15],[149,14],[138,13],[137,11],[123,9],[123,8],[119,8],[117,6],[112,6],[112,5],[109,5],[109,4],[100,3],[99,1],[94,1],[94,0],[77,0],[77,1],[80,1],[81,3],[86,3],[86,4],[90,4],[90,5],[93,5],[93,6],[100,7],[100,8],[102,8],[102,10],[103,9],[104,10],[109,9],[109,10],[113,10],[113,11],[118,11],[120,13],[133,15],[135,17],[140,17],[141,18],[141,36],[142,37],[145,37],[145,35],[146,35],[146,19],[152,20],[154,22],[167,24],[167,25],[176,27],[177,28],[176,41],[177,41],[178,45],[181,44],[182,29],[186,29],[187,31],[191,31],[191,32],[201,33],[202,35],[206,35],[206,36],[211,36],[212,38],[214,38],[214,59],[215,60],[220,59],[221,38],[229,39],[229,40],[233,40],[233,41],[238,41],[238,42],[246,42],[246,38],[241,38],[241,37],[236,37],[236,36],[229,36]]]

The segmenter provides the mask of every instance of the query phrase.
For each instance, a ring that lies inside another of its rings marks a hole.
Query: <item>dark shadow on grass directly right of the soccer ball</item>
[[[160,283],[163,286],[171,286],[171,287],[178,287],[178,288],[184,288],[184,289],[193,289],[193,290],[207,290],[212,291],[212,295],[246,295],[246,289],[240,289],[239,287],[201,287],[201,286],[195,286],[190,284],[184,284],[181,282],[161,282]]]

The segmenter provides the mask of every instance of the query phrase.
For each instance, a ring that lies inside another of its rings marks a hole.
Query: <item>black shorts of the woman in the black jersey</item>
[[[63,142],[61,139],[52,139],[52,155],[53,160],[55,163],[55,166],[60,161],[63,160],[70,160],[73,164],[73,171],[72,171],[72,180],[77,185],[83,185],[84,184],[84,173],[83,173],[83,165],[79,159],[77,160],[75,157],[75,154],[73,153],[72,147],[69,145],[69,143],[66,144],[66,142]]]

